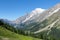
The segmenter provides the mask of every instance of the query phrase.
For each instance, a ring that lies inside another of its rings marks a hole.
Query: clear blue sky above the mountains
[[[48,9],[60,0],[0,0],[0,18],[15,20],[36,8]]]

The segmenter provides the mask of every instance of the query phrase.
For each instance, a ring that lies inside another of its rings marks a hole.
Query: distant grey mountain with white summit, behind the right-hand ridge
[[[14,22],[17,23],[17,24],[25,23],[26,21],[30,20],[33,16],[40,15],[40,13],[42,13],[43,11],[45,11],[45,9],[36,8],[30,14],[26,14],[25,16],[19,17]]]

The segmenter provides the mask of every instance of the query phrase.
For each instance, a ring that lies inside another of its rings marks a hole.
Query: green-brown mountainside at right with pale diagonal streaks
[[[43,22],[37,25],[34,34],[38,36],[43,35],[43,38],[49,40],[60,40],[60,5],[54,14],[46,18]],[[41,28],[42,27],[42,28]]]

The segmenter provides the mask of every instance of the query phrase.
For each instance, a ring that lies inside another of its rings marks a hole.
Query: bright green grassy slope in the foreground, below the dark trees
[[[19,35],[0,26],[0,40],[40,40],[40,39]]]

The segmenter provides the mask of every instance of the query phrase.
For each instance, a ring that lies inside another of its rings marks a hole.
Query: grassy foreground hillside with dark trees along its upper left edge
[[[21,34],[24,34],[22,30],[20,32],[16,28],[10,26],[9,24],[3,23],[3,21],[0,20],[0,40],[41,40]]]

